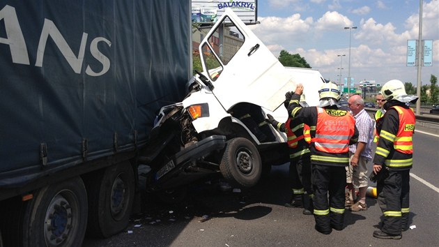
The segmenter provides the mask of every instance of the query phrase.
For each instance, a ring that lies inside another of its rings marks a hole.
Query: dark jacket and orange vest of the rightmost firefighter
[[[373,163],[391,170],[407,170],[413,166],[413,131],[415,114],[405,105],[393,105],[378,126],[380,139]],[[397,123],[397,126],[395,126]]]

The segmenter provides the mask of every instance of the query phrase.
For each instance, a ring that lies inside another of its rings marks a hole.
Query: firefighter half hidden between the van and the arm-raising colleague
[[[290,103],[293,93],[285,94],[286,107]],[[300,98],[302,107],[307,107],[305,95]],[[268,123],[277,128],[277,130],[286,133],[287,144],[289,147],[290,169],[288,178],[291,183],[291,200],[285,204],[285,207],[303,207],[302,213],[311,215],[314,211],[312,203],[311,187],[311,154],[309,153],[309,144],[311,143],[310,128],[304,123],[288,118],[286,123],[279,123],[270,114],[267,115]]]

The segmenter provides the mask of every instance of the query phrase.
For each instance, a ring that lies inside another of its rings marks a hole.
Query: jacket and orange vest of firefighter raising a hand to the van
[[[292,96],[288,114],[292,119],[310,127],[311,163],[349,165],[348,145],[355,144],[358,139],[358,130],[352,115],[346,110],[338,109],[337,105],[324,108],[301,107],[298,104],[299,99],[298,94]]]

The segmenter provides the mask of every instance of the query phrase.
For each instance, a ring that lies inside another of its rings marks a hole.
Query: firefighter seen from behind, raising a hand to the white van
[[[347,110],[339,110],[340,93],[336,84],[322,84],[318,107],[301,107],[302,92],[303,86],[298,84],[288,105],[288,114],[311,128],[315,228],[330,234],[332,229],[343,230],[348,146],[357,142],[358,131],[352,115]]]

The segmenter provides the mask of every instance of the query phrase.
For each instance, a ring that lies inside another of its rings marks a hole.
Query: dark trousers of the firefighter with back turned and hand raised
[[[346,168],[315,163],[311,168],[316,230],[325,234],[330,233],[332,228],[343,230]]]

